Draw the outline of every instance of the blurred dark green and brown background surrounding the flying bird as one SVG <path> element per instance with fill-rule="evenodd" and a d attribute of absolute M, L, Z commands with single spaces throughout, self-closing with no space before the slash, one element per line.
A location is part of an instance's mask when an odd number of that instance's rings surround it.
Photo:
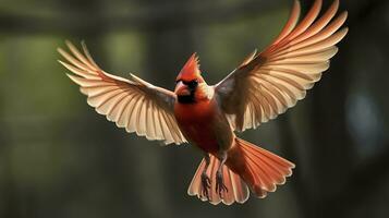
<path fill-rule="evenodd" d="M 302 0 L 303 11 L 312 0 Z M 324 1 L 325 7 L 330 1 Z M 279 33 L 292 0 L 1 0 L 0 217 L 389 216 L 389 1 L 341 0 L 347 38 L 305 100 L 241 134 L 296 164 L 265 199 L 186 195 L 202 155 L 127 134 L 88 107 L 57 47 L 173 88 L 192 52 L 217 83 Z"/>

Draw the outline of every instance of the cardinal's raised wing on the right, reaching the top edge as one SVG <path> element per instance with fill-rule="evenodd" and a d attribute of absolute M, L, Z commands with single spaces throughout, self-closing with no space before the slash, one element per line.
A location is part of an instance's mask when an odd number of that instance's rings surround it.
<path fill-rule="evenodd" d="M 332 20 L 336 0 L 316 22 L 321 0 L 316 0 L 297 24 L 300 2 L 295 1 L 289 21 L 275 41 L 259 55 L 254 52 L 219 84 L 215 92 L 222 110 L 238 131 L 257 128 L 303 99 L 306 89 L 329 68 L 348 28 L 338 31 L 347 12 Z"/>

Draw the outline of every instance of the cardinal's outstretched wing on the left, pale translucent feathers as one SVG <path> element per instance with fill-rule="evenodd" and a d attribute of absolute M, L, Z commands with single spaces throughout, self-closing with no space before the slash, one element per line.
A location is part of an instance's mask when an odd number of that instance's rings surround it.
<path fill-rule="evenodd" d="M 95 63 L 84 44 L 84 55 L 71 43 L 66 45 L 72 55 L 59 48 L 68 61 L 60 63 L 75 74 L 68 76 L 81 86 L 81 93 L 98 113 L 148 140 L 165 141 L 165 144 L 186 142 L 173 114 L 175 95 L 172 92 L 132 74 L 131 80 L 108 74 Z"/>

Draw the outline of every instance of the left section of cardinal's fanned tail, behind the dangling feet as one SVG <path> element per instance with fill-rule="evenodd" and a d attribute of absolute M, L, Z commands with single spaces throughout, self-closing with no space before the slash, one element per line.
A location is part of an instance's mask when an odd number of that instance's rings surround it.
<path fill-rule="evenodd" d="M 220 198 L 219 194 L 215 190 L 216 187 L 215 178 L 216 178 L 216 171 L 219 166 L 219 159 L 212 155 L 210 155 L 210 162 L 207 169 L 207 175 L 211 181 L 210 190 L 209 190 L 209 199 L 207 199 L 207 197 L 203 195 L 203 186 L 202 186 L 202 172 L 205 166 L 206 166 L 205 159 L 203 159 L 197 168 L 195 175 L 192 179 L 191 185 L 187 190 L 187 194 L 192 196 L 197 196 L 204 202 L 209 201 L 209 203 L 214 205 L 217 205 L 220 202 L 226 205 L 231 205 L 234 202 L 242 204 L 247 201 L 250 196 L 247 185 L 244 183 L 244 181 L 241 179 L 239 174 L 235 174 L 227 166 L 223 166 L 222 172 L 223 172 L 224 185 L 227 186 L 228 192 L 223 192 L 222 198 Z"/>

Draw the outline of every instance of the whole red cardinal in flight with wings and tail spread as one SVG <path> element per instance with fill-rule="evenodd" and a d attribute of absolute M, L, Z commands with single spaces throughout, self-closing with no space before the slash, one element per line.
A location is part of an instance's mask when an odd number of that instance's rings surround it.
<path fill-rule="evenodd" d="M 86 45 L 65 41 L 58 48 L 72 73 L 66 75 L 87 96 L 87 104 L 126 132 L 162 144 L 190 143 L 203 159 L 187 193 L 217 205 L 243 204 L 250 194 L 264 198 L 284 184 L 295 165 L 236 136 L 277 118 L 306 96 L 329 69 L 337 44 L 348 33 L 348 12 L 335 0 L 321 14 L 315 0 L 300 20 L 295 0 L 280 34 L 262 52 L 248 55 L 222 81 L 208 85 L 193 53 L 175 77 L 174 90 L 130 74 L 101 70 Z M 337 15 L 338 14 L 338 15 Z"/>

